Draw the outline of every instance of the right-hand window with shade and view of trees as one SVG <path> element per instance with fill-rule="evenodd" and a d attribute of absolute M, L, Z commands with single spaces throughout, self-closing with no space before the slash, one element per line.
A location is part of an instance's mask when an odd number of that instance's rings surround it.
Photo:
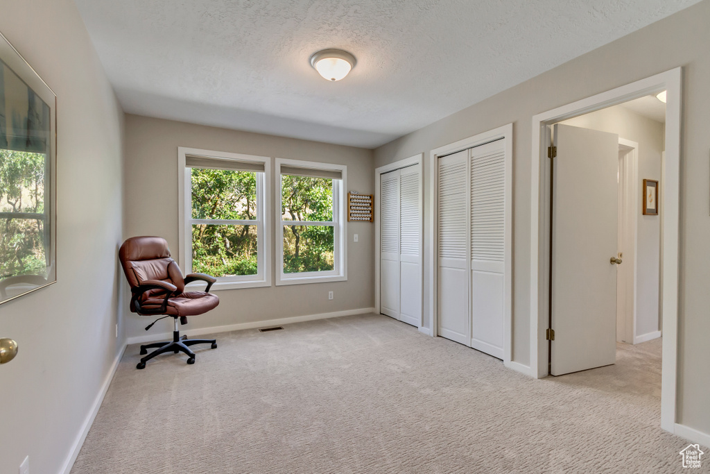
<path fill-rule="evenodd" d="M 277 159 L 276 173 L 276 284 L 346 280 L 346 167 Z"/>

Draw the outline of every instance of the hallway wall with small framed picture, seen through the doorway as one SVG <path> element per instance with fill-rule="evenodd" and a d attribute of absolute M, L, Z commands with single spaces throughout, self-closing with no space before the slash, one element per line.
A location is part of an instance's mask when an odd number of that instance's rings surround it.
<path fill-rule="evenodd" d="M 618 105 L 574 117 L 562 123 L 608 131 L 618 134 L 623 139 L 637 142 L 639 196 L 642 193 L 644 179 L 660 181 L 661 152 L 665 139 L 665 126 L 662 123 Z M 643 215 L 641 208 L 643 201 L 640 197 L 638 199 L 638 209 L 635 210 L 638 213 L 635 337 L 655 333 L 660 328 L 660 215 Z"/>

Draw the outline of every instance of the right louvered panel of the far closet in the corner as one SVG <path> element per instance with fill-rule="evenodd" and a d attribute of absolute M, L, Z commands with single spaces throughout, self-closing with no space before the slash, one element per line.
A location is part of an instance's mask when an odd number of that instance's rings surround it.
<path fill-rule="evenodd" d="M 400 169 L 400 321 L 422 321 L 421 202 L 419 166 Z"/>

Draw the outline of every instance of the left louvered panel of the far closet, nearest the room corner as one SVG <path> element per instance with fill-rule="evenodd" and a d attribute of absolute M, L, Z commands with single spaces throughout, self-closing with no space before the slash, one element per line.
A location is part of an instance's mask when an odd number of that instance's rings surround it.
<path fill-rule="evenodd" d="M 399 319 L 399 170 L 380 176 L 380 312 Z"/>

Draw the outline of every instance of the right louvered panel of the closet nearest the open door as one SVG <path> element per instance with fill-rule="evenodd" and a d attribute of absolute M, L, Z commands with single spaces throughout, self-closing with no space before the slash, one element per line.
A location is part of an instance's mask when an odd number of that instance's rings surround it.
<path fill-rule="evenodd" d="M 471 153 L 471 347 L 503 358 L 506 271 L 504 142 Z"/>

